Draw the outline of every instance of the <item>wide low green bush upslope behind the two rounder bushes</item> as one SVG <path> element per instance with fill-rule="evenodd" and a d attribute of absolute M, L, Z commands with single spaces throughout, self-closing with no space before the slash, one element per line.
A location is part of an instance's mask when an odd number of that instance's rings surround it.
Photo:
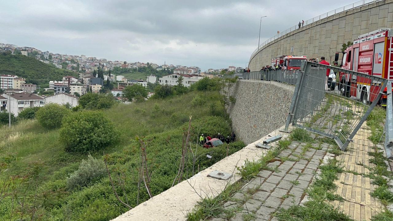
<path fill-rule="evenodd" d="M 79 105 L 86 109 L 108 109 L 114 104 L 112 94 L 93 94 L 87 93 L 79 98 Z"/>

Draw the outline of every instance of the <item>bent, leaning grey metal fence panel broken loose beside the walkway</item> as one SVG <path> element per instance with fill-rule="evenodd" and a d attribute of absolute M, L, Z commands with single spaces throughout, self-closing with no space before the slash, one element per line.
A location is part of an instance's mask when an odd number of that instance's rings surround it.
<path fill-rule="evenodd" d="M 338 91 L 327 90 L 327 69 L 342 72 L 348 83 L 338 85 Z M 352 141 L 388 82 L 380 77 L 309 61 L 302 63 L 298 74 L 286 129 L 292 123 L 333 138 L 342 150 Z"/>

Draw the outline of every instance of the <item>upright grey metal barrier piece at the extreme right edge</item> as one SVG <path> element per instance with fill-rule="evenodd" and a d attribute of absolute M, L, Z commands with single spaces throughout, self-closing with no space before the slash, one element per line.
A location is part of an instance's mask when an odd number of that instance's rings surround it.
<path fill-rule="evenodd" d="M 387 94 L 386 99 L 386 122 L 385 122 L 385 151 L 386 156 L 389 159 L 393 159 L 393 99 L 392 99 L 392 85 L 391 82 L 387 83 L 386 91 L 389 92 Z"/>

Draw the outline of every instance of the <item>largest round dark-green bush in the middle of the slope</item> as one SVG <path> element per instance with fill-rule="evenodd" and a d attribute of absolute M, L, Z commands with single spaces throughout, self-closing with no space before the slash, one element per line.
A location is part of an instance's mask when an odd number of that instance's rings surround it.
<path fill-rule="evenodd" d="M 119 135 L 101 111 L 73 112 L 65 117 L 60 137 L 68 151 L 97 151 L 116 143 Z"/>

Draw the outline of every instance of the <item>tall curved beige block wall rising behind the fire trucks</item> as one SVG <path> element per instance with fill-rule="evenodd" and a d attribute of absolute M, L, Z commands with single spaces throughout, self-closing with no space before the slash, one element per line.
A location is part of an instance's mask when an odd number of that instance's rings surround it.
<path fill-rule="evenodd" d="M 342 44 L 380 28 L 393 28 L 393 0 L 362 6 L 296 29 L 261 48 L 251 57 L 249 67 L 251 71 L 260 70 L 281 55 L 325 56 L 331 62 Z"/>

